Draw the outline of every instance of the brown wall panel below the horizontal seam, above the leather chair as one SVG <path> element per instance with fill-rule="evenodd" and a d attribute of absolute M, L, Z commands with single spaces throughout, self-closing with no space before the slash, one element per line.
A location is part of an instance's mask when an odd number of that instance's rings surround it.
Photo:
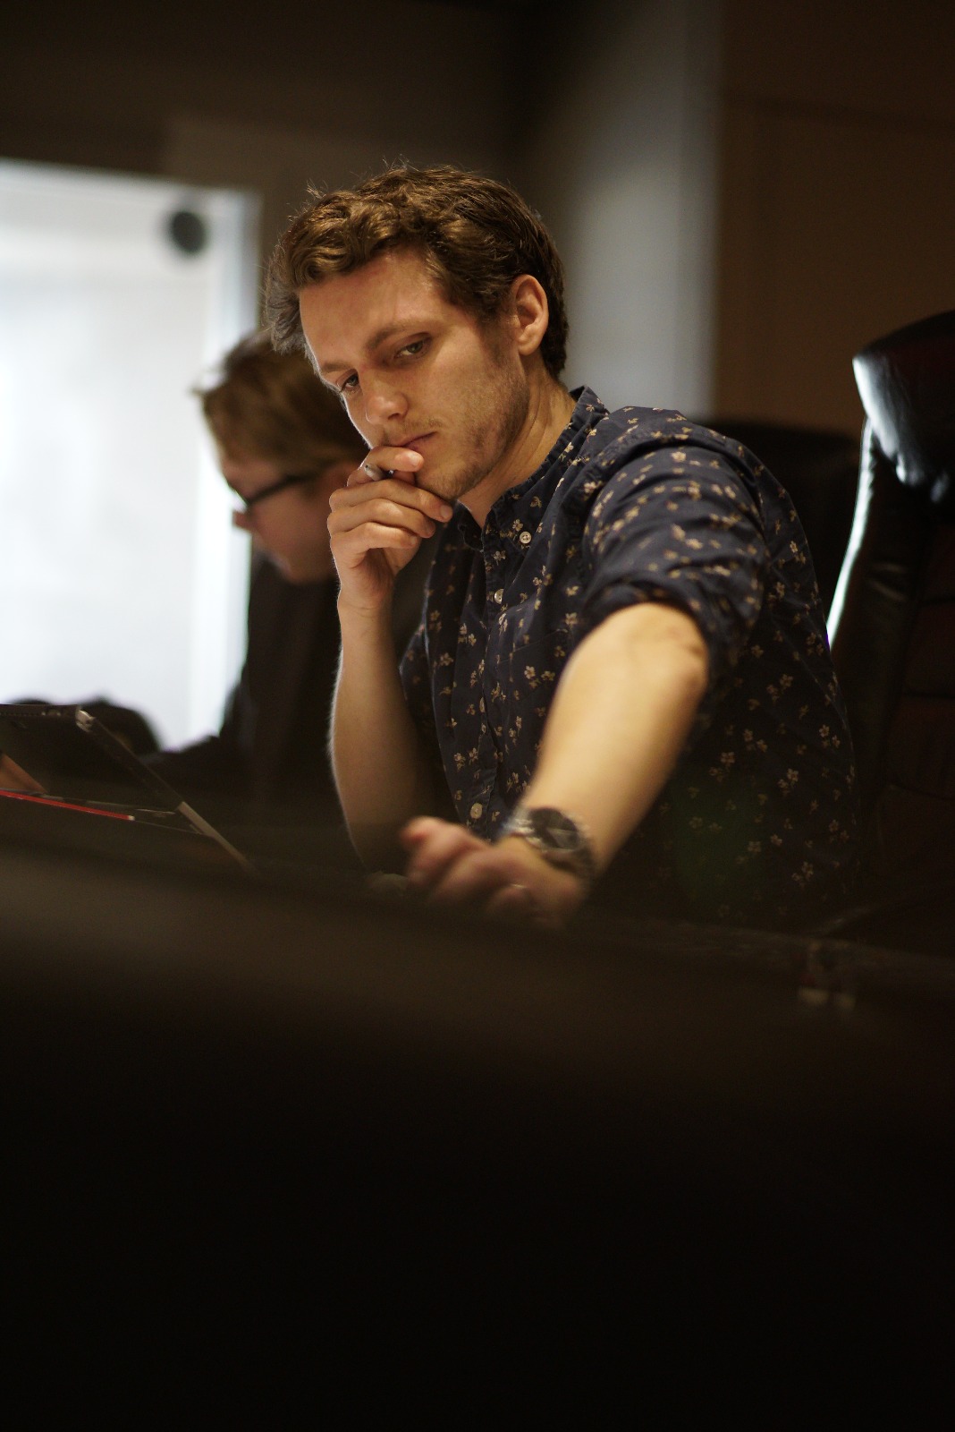
<path fill-rule="evenodd" d="M 955 132 L 733 103 L 716 404 L 858 431 L 852 355 L 955 308 Z"/>

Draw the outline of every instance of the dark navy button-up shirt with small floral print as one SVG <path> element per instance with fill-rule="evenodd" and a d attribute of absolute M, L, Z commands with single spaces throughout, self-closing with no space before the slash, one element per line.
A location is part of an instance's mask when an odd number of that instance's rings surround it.
<path fill-rule="evenodd" d="M 856 798 L 806 538 L 741 444 L 588 388 L 483 530 L 457 505 L 402 663 L 457 818 L 493 841 L 535 769 L 563 666 L 610 613 L 688 611 L 709 689 L 679 765 L 596 898 L 759 925 L 843 895 Z"/>

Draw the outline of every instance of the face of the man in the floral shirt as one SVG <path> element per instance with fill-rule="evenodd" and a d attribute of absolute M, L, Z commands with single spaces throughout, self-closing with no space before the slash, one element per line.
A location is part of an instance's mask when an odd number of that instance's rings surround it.
<path fill-rule="evenodd" d="M 528 379 L 506 315 L 450 304 L 413 251 L 389 251 L 300 294 L 319 374 L 369 447 L 406 447 L 425 487 L 450 501 L 500 470 L 528 415 Z"/>

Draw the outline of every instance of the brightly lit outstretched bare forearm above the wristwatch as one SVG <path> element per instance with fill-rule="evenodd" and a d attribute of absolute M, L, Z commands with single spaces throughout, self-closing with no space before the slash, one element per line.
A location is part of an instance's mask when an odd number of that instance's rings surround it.
<path fill-rule="evenodd" d="M 666 783 L 706 690 L 695 623 L 645 603 L 615 613 L 568 663 L 525 793 L 583 821 L 605 869 Z"/>

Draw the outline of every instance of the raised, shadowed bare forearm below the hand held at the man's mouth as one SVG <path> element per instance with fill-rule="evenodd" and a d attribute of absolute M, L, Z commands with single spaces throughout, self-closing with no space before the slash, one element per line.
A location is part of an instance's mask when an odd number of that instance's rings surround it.
<path fill-rule="evenodd" d="M 409 716 L 386 616 L 342 613 L 332 765 L 349 833 L 367 865 L 400 862 L 397 831 L 433 813 L 435 792 Z"/>

